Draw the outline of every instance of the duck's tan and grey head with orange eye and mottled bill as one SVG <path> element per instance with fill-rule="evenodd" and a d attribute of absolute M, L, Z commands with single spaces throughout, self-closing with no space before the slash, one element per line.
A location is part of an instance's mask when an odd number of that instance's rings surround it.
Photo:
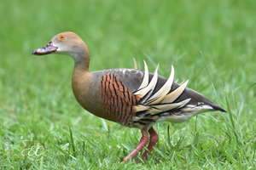
<path fill-rule="evenodd" d="M 65 54 L 73 57 L 75 60 L 81 57 L 90 58 L 89 49 L 82 38 L 71 31 L 57 34 L 44 48 L 35 49 L 32 54 Z"/>

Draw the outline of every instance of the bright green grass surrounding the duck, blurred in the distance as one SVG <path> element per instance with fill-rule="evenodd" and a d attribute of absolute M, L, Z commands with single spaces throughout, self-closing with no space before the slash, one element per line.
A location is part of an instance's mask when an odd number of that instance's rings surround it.
<path fill-rule="evenodd" d="M 0 169 L 256 168 L 255 1 L 0 4 Z M 120 164 L 140 131 L 82 109 L 71 88 L 73 59 L 31 54 L 61 31 L 87 43 L 90 71 L 132 68 L 135 58 L 149 71 L 160 63 L 168 77 L 174 65 L 180 82 L 189 79 L 229 113 L 156 124 L 160 140 L 149 160 Z M 44 143 L 45 156 L 21 155 L 33 140 Z"/>

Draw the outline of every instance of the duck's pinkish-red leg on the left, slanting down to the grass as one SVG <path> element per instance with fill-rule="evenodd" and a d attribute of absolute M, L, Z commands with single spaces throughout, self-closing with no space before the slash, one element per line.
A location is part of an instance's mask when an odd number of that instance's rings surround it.
<path fill-rule="evenodd" d="M 152 128 L 153 129 L 153 128 Z M 154 129 L 153 129 L 154 131 Z M 122 161 L 121 163 L 124 163 L 125 161 L 129 160 L 130 159 L 130 156 L 131 156 L 131 160 L 134 159 L 135 156 L 137 156 L 138 152 L 143 150 L 143 147 L 145 147 L 146 144 L 148 144 L 148 141 L 149 141 L 149 137 L 148 137 L 148 132 L 147 130 L 143 129 L 142 130 L 142 133 L 143 133 L 143 137 L 142 139 L 140 140 L 140 143 L 137 145 L 137 149 L 133 150 L 131 152 L 131 154 L 129 154 L 128 156 L 126 156 L 124 158 L 124 161 Z M 155 132 L 154 132 L 155 133 Z M 151 134 L 151 133 L 150 133 Z M 151 142 L 151 140 L 150 140 Z"/>

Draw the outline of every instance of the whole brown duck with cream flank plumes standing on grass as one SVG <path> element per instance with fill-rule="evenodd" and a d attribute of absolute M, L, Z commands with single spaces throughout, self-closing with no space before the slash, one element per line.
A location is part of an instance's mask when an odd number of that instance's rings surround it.
<path fill-rule="evenodd" d="M 144 71 L 138 70 L 137 65 L 134 69 L 89 71 L 89 48 L 81 37 L 71 31 L 57 34 L 43 48 L 33 50 L 32 54 L 72 57 L 72 88 L 79 105 L 95 116 L 141 130 L 143 136 L 139 144 L 122 163 L 133 160 L 143 148 L 141 158 L 148 160 L 159 139 L 154 131 L 155 123 L 186 122 L 207 111 L 227 112 L 211 99 L 187 88 L 189 81 L 181 84 L 174 82 L 173 66 L 168 78 L 158 75 L 159 65 L 154 73 L 149 72 L 145 61 Z"/>

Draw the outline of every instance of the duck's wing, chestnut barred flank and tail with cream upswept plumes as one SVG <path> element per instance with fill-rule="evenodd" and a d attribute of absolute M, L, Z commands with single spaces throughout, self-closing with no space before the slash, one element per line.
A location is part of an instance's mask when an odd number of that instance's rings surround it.
<path fill-rule="evenodd" d="M 115 122 L 148 128 L 155 122 L 184 122 L 201 112 L 224 111 L 212 100 L 186 88 L 188 81 L 182 85 L 173 82 L 173 66 L 167 79 L 158 76 L 158 67 L 149 73 L 144 64 L 145 71 L 114 69 L 94 73 L 101 78 L 103 105 L 108 114 L 117 116 Z"/>

